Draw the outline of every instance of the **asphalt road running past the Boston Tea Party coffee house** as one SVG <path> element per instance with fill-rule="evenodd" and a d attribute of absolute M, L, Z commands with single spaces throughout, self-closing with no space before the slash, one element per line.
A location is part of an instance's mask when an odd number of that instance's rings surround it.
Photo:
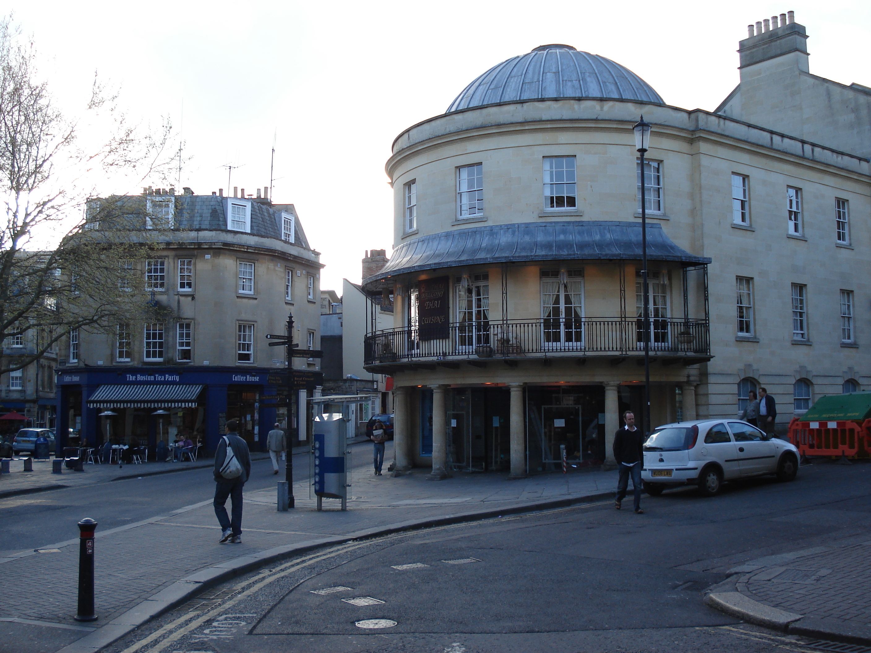
<path fill-rule="evenodd" d="M 352 445 L 352 467 L 371 465 L 372 445 Z M 392 454 L 391 454 L 392 455 Z M 135 468 L 125 465 L 125 471 Z M 147 466 L 143 466 L 147 471 Z M 284 469 L 279 472 L 283 478 Z M 272 462 L 252 461 L 246 491 L 274 488 Z M 308 478 L 308 454 L 294 455 L 294 481 Z M 107 481 L 78 488 L 0 499 L 0 555 L 37 549 L 78 537 L 76 523 L 83 517 L 97 520 L 100 530 L 140 522 L 184 508 L 214 495 L 212 468 L 194 468 L 172 474 Z M 44 499 L 44 502 L 31 502 Z M 26 564 L 26 563 L 25 563 Z"/>

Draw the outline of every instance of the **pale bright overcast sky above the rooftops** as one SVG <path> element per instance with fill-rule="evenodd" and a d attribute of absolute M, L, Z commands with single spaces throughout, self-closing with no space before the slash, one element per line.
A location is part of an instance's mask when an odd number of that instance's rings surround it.
<path fill-rule="evenodd" d="M 359 283 L 365 250 L 392 248 L 384 164 L 393 139 L 538 45 L 611 58 L 666 103 L 712 111 L 738 83 L 746 25 L 794 10 L 812 73 L 871 86 L 867 0 L 3 4 L 35 37 L 62 102 L 72 105 L 98 71 L 120 85 L 131 116 L 172 118 L 191 158 L 180 186 L 226 192 L 226 165 L 240 166 L 231 186 L 269 185 L 274 138 L 273 198 L 296 205 L 327 266 L 321 287 L 340 293 L 342 278 Z"/>

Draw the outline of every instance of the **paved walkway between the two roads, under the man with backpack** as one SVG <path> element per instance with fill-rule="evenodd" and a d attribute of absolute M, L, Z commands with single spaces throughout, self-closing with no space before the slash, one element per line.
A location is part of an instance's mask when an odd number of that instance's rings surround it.
<path fill-rule="evenodd" d="M 410 520 L 595 497 L 612 492 L 617 481 L 613 472 L 597 471 L 520 481 L 508 481 L 507 474 L 456 474 L 447 481 L 434 482 L 426 478 L 424 470 L 396 477 L 371 475 L 369 465 L 352 472 L 347 512 L 338 509 L 340 502 L 336 500 L 324 500 L 326 509 L 317 512 L 308 481 L 294 483 L 296 508 L 285 513 L 276 511 L 274 488 L 246 493 L 240 545 L 218 543 L 220 530 L 211 487 L 204 488 L 203 501 L 192 506 L 119 528 L 98 529 L 95 584 L 100 618 L 92 625 L 99 628 L 109 623 L 161 590 L 172 594 L 167 589 L 179 585 L 179 579 L 216 567 L 229 568 L 234 559 L 252 560 L 251 556 L 267 549 Z M 44 496 L 51 501 L 51 494 Z M 41 549 L 7 555 L 0 558 L 4 589 L 0 618 L 75 625 L 78 540 L 46 543 Z"/>

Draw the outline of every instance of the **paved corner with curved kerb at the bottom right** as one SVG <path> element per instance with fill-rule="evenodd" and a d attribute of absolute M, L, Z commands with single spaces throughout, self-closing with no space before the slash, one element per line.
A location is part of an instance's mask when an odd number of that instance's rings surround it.
<path fill-rule="evenodd" d="M 871 644 L 868 534 L 768 555 L 728 573 L 706 597 L 714 607 L 795 635 Z"/>

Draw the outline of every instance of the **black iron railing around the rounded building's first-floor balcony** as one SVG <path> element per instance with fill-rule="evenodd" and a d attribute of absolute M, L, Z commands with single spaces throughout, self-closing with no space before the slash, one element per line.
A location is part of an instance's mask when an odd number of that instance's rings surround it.
<path fill-rule="evenodd" d="M 659 356 L 709 356 L 706 320 L 651 320 L 650 351 Z M 388 329 L 366 336 L 367 365 L 422 359 L 517 358 L 530 354 L 640 355 L 645 348 L 643 320 L 621 318 L 546 318 L 459 322 L 438 327 Z"/>

